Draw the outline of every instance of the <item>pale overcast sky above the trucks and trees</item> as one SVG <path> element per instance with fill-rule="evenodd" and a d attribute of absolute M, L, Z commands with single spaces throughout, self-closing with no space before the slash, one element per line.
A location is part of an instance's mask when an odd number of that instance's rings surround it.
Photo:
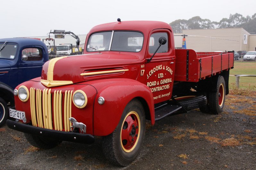
<path fill-rule="evenodd" d="M 254 0 L 4 0 L 0 3 L 0 38 L 46 36 L 50 30 L 87 34 L 91 27 L 107 22 L 176 19 L 220 21 L 230 14 L 250 17 Z"/>

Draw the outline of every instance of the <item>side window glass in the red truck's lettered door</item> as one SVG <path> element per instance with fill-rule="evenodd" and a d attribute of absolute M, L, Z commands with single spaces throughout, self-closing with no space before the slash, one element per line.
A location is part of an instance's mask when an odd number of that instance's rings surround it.
<path fill-rule="evenodd" d="M 164 45 L 161 45 L 161 47 L 158 49 L 157 53 L 164 53 L 164 52 L 168 52 L 168 47 L 169 47 L 169 43 L 168 43 L 168 34 L 167 33 L 154 33 L 150 36 L 149 39 L 149 53 L 154 53 L 158 46 L 159 46 L 159 38 L 160 37 L 165 37 L 167 42 Z"/>

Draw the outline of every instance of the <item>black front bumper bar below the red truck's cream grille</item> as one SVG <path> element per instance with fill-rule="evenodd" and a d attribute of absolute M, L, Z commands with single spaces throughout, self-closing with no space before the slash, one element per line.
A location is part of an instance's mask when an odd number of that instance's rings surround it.
<path fill-rule="evenodd" d="M 45 138 L 88 144 L 93 143 L 95 141 L 94 136 L 90 134 L 63 132 L 45 128 L 38 128 L 31 125 L 15 122 L 12 120 L 7 120 L 6 124 L 11 129 Z"/>

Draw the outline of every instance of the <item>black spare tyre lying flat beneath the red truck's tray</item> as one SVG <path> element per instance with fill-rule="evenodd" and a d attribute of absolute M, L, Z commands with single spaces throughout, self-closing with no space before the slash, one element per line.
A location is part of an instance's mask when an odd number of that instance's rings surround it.
<path fill-rule="evenodd" d="M 188 97 L 186 99 L 177 100 L 177 101 L 187 111 L 199 108 L 200 106 L 207 104 L 207 99 L 206 99 L 206 96 L 204 95 L 200 95 L 196 97 Z"/>

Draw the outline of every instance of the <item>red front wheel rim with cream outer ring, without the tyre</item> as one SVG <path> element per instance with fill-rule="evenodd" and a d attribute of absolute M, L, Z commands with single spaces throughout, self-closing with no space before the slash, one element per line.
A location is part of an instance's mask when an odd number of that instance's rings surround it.
<path fill-rule="evenodd" d="M 121 145 L 125 152 L 136 147 L 141 132 L 141 122 L 137 112 L 129 112 L 124 118 L 121 129 Z"/>

